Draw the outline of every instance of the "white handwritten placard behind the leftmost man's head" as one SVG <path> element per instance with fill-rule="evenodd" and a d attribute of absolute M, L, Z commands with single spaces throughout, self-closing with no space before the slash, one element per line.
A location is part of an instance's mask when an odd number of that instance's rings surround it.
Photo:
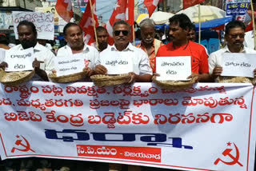
<path fill-rule="evenodd" d="M 38 32 L 38 39 L 54 40 L 54 14 L 24 11 L 13 11 L 12 14 L 16 39 L 18 39 L 18 23 L 26 20 L 34 23 Z"/>

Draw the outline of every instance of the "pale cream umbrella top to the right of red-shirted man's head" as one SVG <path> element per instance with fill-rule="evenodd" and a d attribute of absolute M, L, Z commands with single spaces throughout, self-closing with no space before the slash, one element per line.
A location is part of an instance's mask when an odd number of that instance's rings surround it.
<path fill-rule="evenodd" d="M 206 22 L 218 18 L 224 18 L 225 17 L 225 11 L 221 10 L 215 6 L 200 6 L 201 10 L 201 22 Z M 186 14 L 191 22 L 199 22 L 198 19 L 198 5 L 197 6 L 191 6 L 190 8 L 187 8 L 185 10 L 179 11 L 177 14 Z"/>

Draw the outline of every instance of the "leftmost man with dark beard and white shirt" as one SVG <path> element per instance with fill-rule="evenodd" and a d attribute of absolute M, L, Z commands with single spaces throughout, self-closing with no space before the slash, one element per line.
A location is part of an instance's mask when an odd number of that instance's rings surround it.
<path fill-rule="evenodd" d="M 18 40 L 21 43 L 18 46 L 10 48 L 10 50 L 26 50 L 30 47 L 34 48 L 34 62 L 32 66 L 35 70 L 34 81 L 48 81 L 47 74 L 53 70 L 54 54 L 45 46 L 42 46 L 37 41 L 37 30 L 33 22 L 22 21 L 17 26 Z M 2 62 L 0 67 L 5 68 L 8 64 Z"/>

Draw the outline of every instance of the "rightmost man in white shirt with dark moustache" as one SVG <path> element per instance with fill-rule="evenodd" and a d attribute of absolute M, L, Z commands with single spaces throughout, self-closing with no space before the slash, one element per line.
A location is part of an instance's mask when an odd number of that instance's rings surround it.
<path fill-rule="evenodd" d="M 218 78 L 222 74 L 222 54 L 224 53 L 244 53 L 244 54 L 256 54 L 255 50 L 244 47 L 246 26 L 243 22 L 233 21 L 226 25 L 225 40 L 226 46 L 212 54 L 209 58 L 209 73 L 210 79 L 214 82 L 215 78 Z M 255 71 L 254 71 L 255 73 Z"/>

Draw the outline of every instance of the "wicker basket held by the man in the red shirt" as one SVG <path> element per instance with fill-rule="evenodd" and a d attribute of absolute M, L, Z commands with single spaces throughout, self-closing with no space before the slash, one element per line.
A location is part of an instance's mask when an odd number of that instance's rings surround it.
<path fill-rule="evenodd" d="M 161 87 L 162 89 L 172 89 L 172 90 L 180 90 L 180 89 L 189 89 L 195 83 L 196 78 L 192 78 L 190 81 L 158 81 L 155 76 L 152 78 L 153 82 Z"/>

